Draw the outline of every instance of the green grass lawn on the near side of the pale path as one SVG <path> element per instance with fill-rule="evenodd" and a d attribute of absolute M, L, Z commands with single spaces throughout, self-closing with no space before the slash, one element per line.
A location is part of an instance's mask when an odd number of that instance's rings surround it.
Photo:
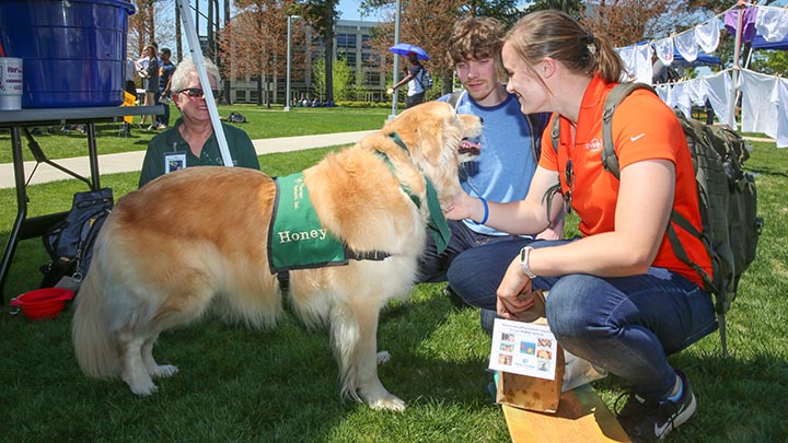
<path fill-rule="evenodd" d="M 722 359 L 717 334 L 671 357 L 691 376 L 698 398 L 697 412 L 670 434 L 671 441 L 788 441 L 788 150 L 754 144 L 746 167 L 757 175 L 766 225 L 728 317 L 731 357 Z M 260 164 L 281 175 L 325 152 L 264 155 Z M 134 189 L 137 178 L 128 173 L 102 180 L 117 198 Z M 71 195 L 83 188 L 76 180 L 32 186 L 32 211 L 66 210 Z M 13 189 L 1 189 L 0 242 L 14 215 Z M 206 319 L 166 331 L 157 357 L 181 372 L 160 381 L 155 395 L 140 398 L 118 380 L 81 374 L 70 343 L 70 306 L 54 320 L 10 315 L 9 299 L 37 285 L 46 260 L 40 240 L 22 242 L 4 288 L 0 410 L 7 423 L 0 440 L 510 441 L 500 407 L 485 392 L 491 380 L 485 371 L 490 340 L 478 326 L 477 311 L 455 308 L 441 295 L 442 284 L 417 287 L 381 316 L 379 347 L 392 360 L 380 376 L 407 401 L 402 413 L 340 400 L 327 331 L 306 330 L 290 314 L 271 330 Z M 622 392 L 614 376 L 593 386 L 609 405 Z"/>

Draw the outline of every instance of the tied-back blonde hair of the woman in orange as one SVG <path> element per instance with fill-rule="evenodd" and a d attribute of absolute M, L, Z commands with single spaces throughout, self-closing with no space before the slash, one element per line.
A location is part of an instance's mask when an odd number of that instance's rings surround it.
<path fill-rule="evenodd" d="M 618 82 L 624 72 L 624 62 L 607 38 L 594 36 L 561 11 L 546 10 L 523 16 L 506 34 L 503 43 L 534 73 L 534 67 L 545 57 L 560 61 L 575 73 L 599 72 L 607 83 Z"/>

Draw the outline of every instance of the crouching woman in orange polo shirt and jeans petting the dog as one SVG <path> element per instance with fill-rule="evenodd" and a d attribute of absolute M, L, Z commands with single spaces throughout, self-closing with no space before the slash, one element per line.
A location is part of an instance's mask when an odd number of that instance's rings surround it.
<path fill-rule="evenodd" d="M 686 421 L 695 396 L 667 357 L 716 328 L 711 296 L 665 236 L 671 211 L 700 230 L 695 174 L 681 124 L 659 97 L 638 90 L 613 117 L 621 180 L 602 165 L 602 109 L 624 66 L 605 38 L 559 11 L 525 15 L 503 38 L 507 89 L 525 114 L 559 118 L 557 152 L 549 127 L 524 200 L 487 202 L 463 195 L 447 213 L 512 234 L 543 231 L 560 201 L 580 218 L 581 238 L 537 242 L 515 257 L 495 245 L 463 257 L 468 272 L 497 281 L 498 315 L 518 319 L 548 290 L 546 316 L 569 352 L 621 376 L 633 393 L 618 411 L 636 441 L 652 441 Z M 711 272 L 703 244 L 676 229 L 691 259 Z M 513 259 L 512 259 L 513 258 Z M 457 269 L 455 269 L 457 270 Z M 453 288 L 462 295 L 462 288 Z"/>

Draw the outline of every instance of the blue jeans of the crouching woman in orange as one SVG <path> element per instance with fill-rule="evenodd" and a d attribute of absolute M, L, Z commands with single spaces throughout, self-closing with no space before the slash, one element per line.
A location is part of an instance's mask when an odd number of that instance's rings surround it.
<path fill-rule="evenodd" d="M 518 253 L 513 245 L 501 243 L 459 256 L 449 279 L 455 273 L 466 277 L 452 281 L 453 290 L 471 304 L 495 306 L 498 283 Z M 664 398 L 673 388 L 675 372 L 668 355 L 717 328 L 711 296 L 663 268 L 622 278 L 538 277 L 533 285 L 549 290 L 547 322 L 564 349 L 621 376 L 647 398 Z"/>

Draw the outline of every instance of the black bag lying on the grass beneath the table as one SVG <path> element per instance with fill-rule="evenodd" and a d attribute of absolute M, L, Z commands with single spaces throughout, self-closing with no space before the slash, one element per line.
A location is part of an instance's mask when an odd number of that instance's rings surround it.
<path fill-rule="evenodd" d="M 66 219 L 49 228 L 44 236 L 44 248 L 50 261 L 42 267 L 42 288 L 51 288 L 63 277 L 71 277 L 69 287 L 77 289 L 88 272 L 93 258 L 93 244 L 114 205 L 113 191 L 77 193 Z"/>

